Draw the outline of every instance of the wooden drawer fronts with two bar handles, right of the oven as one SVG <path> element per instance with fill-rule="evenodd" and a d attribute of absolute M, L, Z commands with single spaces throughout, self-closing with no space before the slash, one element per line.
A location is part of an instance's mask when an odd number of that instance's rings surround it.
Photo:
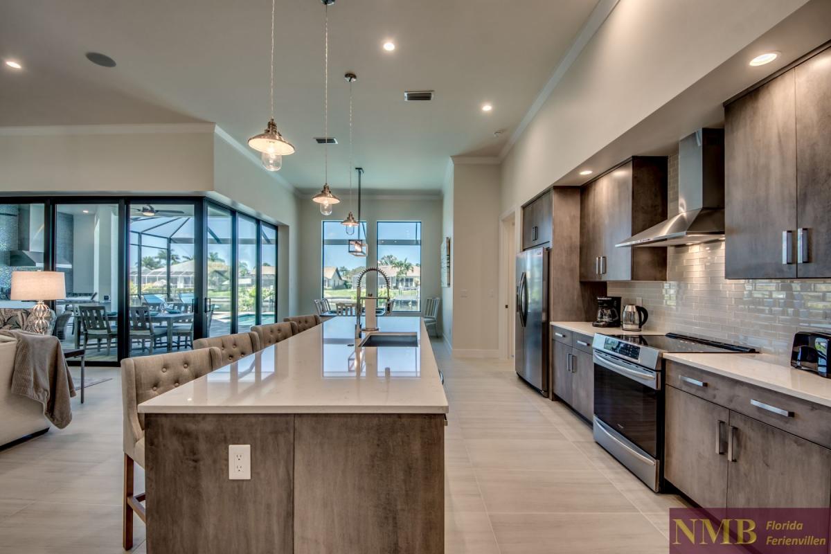
<path fill-rule="evenodd" d="M 666 384 L 831 448 L 831 408 L 666 360 Z"/>

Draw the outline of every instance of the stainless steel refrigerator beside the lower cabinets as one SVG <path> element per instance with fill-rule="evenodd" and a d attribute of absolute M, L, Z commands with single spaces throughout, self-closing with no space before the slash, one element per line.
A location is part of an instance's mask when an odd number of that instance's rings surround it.
<path fill-rule="evenodd" d="M 548 395 L 548 248 L 517 254 L 514 369 Z"/>

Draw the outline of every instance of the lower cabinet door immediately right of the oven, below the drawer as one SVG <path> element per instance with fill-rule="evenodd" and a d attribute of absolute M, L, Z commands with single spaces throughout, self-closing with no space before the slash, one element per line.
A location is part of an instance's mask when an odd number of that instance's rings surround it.
<path fill-rule="evenodd" d="M 666 387 L 664 477 L 700 506 L 725 507 L 730 410 Z"/>

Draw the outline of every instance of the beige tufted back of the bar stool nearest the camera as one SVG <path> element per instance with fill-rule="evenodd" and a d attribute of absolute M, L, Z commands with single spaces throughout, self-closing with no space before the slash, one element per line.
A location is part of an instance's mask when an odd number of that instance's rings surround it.
<path fill-rule="evenodd" d="M 218 348 L 121 360 L 124 453 L 145 467 L 145 418 L 139 404 L 223 365 Z"/>

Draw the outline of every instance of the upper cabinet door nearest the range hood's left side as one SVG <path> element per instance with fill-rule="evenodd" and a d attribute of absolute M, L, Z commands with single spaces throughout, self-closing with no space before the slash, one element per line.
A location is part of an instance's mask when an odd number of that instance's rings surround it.
<path fill-rule="evenodd" d="M 603 281 L 632 279 L 632 248 L 615 244 L 632 236 L 632 162 L 612 170 L 602 181 Z"/>

